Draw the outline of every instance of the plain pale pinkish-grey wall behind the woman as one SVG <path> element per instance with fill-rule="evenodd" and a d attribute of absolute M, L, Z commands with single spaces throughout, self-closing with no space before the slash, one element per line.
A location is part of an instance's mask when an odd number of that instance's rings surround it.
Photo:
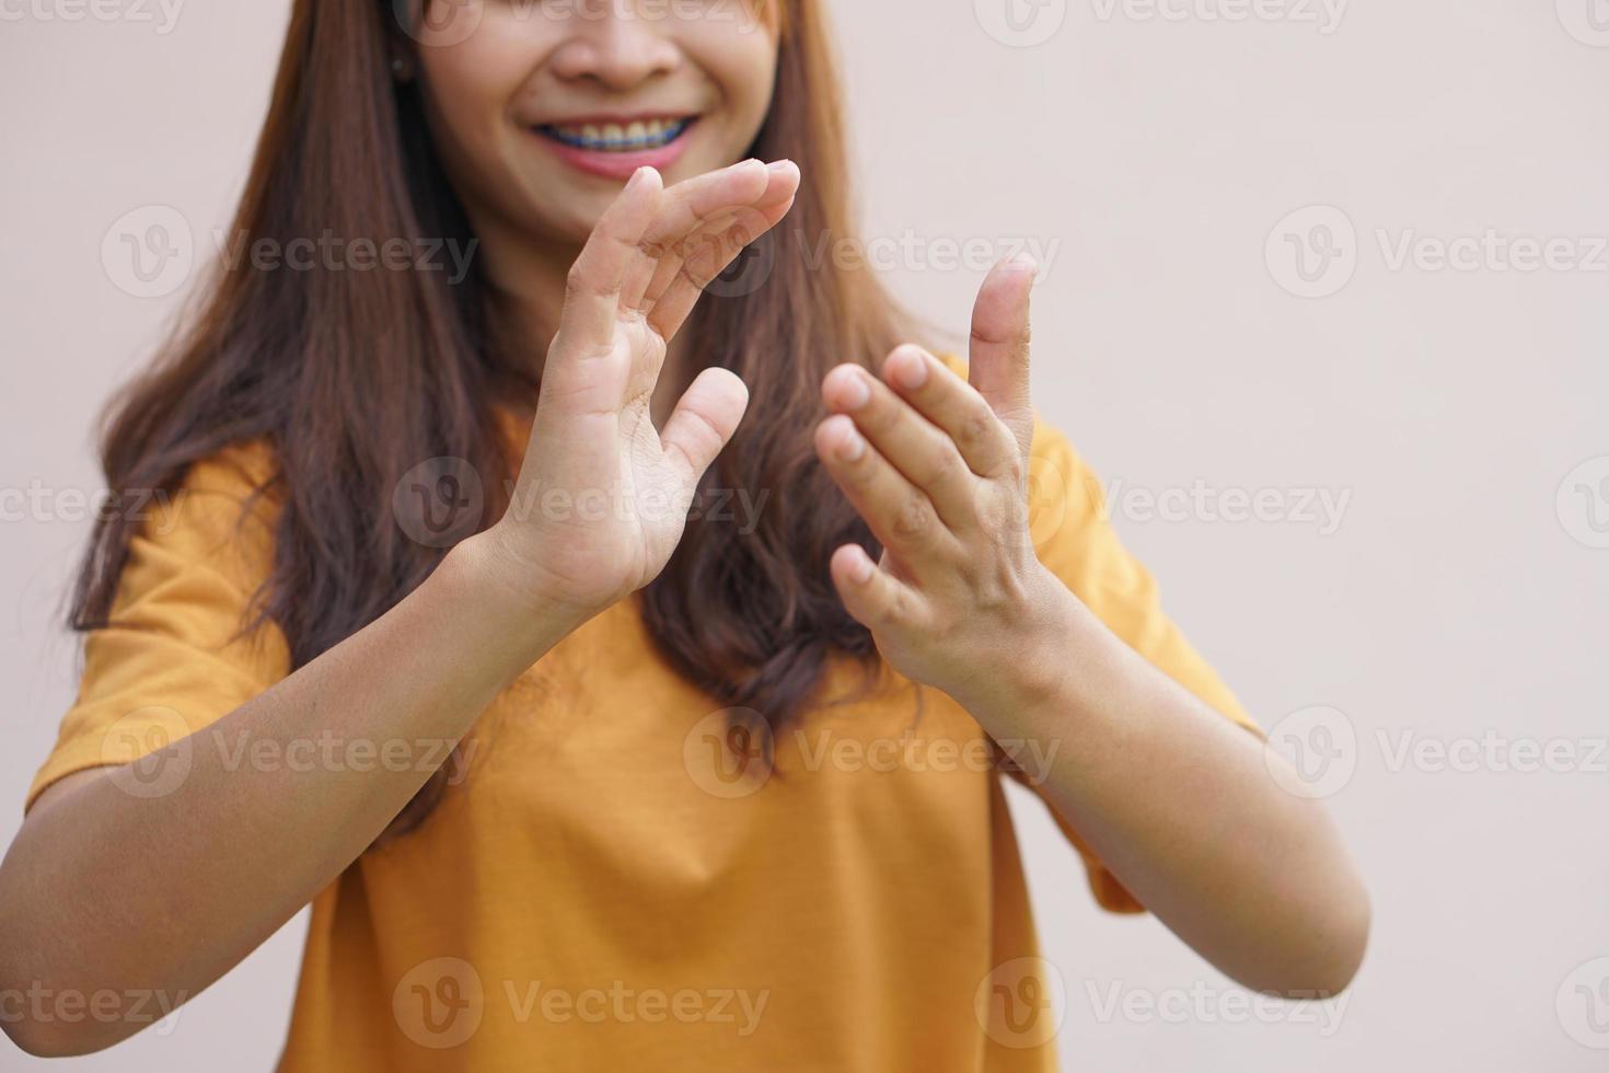
<path fill-rule="evenodd" d="M 1281 748 L 1327 748 L 1376 906 L 1342 1002 L 1249 1012 L 1018 800 L 1067 1068 L 1603 1068 L 1609 5 L 1009 2 L 832 5 L 869 253 L 964 331 L 970 262 L 1033 243 L 1041 410 Z M 103 240 L 227 222 L 286 11 L 0 0 L 0 838 L 74 690 L 90 418 L 183 294 Z M 270 1068 L 302 927 L 58 1068 Z"/>

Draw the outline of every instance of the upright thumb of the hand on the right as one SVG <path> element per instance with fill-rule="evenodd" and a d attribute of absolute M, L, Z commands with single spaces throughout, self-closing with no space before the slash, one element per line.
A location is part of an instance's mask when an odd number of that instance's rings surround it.
<path fill-rule="evenodd" d="M 1017 438 L 1022 457 L 1033 446 L 1028 389 L 1028 293 L 1038 265 L 1017 254 L 994 265 L 972 307 L 969 378 Z"/>

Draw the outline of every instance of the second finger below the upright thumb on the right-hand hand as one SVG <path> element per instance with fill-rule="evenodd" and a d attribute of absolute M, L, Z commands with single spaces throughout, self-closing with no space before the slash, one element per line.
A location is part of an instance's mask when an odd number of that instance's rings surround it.
<path fill-rule="evenodd" d="M 977 476 L 941 428 L 859 365 L 833 368 L 821 393 L 829 410 L 848 413 L 877 452 L 927 492 L 946 526 L 959 532 L 975 521 Z"/>

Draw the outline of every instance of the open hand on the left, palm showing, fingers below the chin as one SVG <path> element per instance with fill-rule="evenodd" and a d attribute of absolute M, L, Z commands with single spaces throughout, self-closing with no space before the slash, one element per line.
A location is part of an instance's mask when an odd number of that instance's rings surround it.
<path fill-rule="evenodd" d="M 489 531 L 544 608 L 587 618 L 669 561 L 748 389 L 706 368 L 656 430 L 648 404 L 666 344 L 798 183 L 792 161 L 743 161 L 668 190 L 640 169 L 599 219 L 570 270 L 512 505 Z"/>

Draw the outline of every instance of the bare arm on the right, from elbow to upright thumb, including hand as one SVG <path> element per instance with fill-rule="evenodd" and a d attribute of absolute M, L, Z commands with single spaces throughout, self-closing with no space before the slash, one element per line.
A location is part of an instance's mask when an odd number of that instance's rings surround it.
<path fill-rule="evenodd" d="M 917 347 L 882 380 L 829 375 L 817 452 L 885 547 L 879 563 L 838 549 L 833 582 L 895 668 L 1054 758 L 1044 796 L 1195 951 L 1260 991 L 1334 994 L 1363 959 L 1369 901 L 1319 803 L 1286 793 L 1255 735 L 1036 558 L 1030 267 L 985 282 L 970 383 Z"/>

